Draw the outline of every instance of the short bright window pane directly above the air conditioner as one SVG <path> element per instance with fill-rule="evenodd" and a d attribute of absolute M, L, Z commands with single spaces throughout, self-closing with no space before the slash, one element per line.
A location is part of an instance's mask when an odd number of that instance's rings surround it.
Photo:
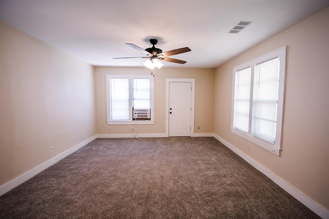
<path fill-rule="evenodd" d="M 133 106 L 134 108 L 151 108 L 150 79 L 133 79 Z"/>

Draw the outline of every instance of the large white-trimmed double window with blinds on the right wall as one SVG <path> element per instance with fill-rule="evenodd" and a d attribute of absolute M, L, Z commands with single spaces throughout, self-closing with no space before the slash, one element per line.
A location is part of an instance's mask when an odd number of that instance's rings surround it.
<path fill-rule="evenodd" d="M 232 133 L 280 156 L 286 47 L 233 68 Z"/>

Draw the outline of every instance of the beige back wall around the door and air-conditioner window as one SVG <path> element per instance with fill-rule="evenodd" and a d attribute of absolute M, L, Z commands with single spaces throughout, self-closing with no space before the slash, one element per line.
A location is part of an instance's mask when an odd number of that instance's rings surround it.
<path fill-rule="evenodd" d="M 166 65 L 166 63 L 165 63 Z M 147 68 L 95 67 L 98 134 L 130 134 L 132 125 L 106 124 L 106 74 L 151 74 Z M 213 133 L 214 69 L 166 68 L 153 70 L 155 96 L 154 124 L 138 125 L 138 133 L 165 133 L 166 78 L 195 78 L 195 133 Z M 104 127 L 102 127 L 104 124 Z M 196 127 L 200 126 L 197 130 Z"/>

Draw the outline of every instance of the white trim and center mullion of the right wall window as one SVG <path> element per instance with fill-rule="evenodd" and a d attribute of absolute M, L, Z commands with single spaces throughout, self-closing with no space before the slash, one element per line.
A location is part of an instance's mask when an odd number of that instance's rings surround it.
<path fill-rule="evenodd" d="M 253 90 L 253 75 L 255 65 L 280 57 L 280 68 L 279 68 L 279 93 L 278 93 L 278 108 L 277 108 L 277 127 L 276 127 L 276 141 L 272 145 L 266 141 L 255 138 L 251 135 L 251 119 L 252 119 L 252 90 Z M 249 131 L 245 133 L 241 130 L 234 129 L 233 127 L 233 116 L 234 116 L 234 88 L 235 88 L 235 72 L 247 67 L 251 67 L 251 88 L 250 88 L 250 112 L 249 112 Z M 233 85 L 232 85 L 232 116 L 231 116 L 231 132 L 235 135 L 238 135 L 254 144 L 259 145 L 260 147 L 266 149 L 267 151 L 272 152 L 278 156 L 281 155 L 281 141 L 282 141 L 282 126 L 283 126 L 283 106 L 284 106 L 284 87 L 285 87 L 285 71 L 286 71 L 286 46 L 281 47 L 277 50 L 269 52 L 261 57 L 243 63 L 241 65 L 233 67 Z"/>

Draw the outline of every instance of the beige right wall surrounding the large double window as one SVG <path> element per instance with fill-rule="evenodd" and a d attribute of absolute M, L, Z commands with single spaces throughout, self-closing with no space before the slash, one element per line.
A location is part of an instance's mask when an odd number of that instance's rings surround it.
<path fill-rule="evenodd" d="M 218 67 L 214 133 L 329 210 L 328 21 L 326 8 Z M 232 68 L 284 45 L 283 151 L 278 157 L 231 133 Z"/>

